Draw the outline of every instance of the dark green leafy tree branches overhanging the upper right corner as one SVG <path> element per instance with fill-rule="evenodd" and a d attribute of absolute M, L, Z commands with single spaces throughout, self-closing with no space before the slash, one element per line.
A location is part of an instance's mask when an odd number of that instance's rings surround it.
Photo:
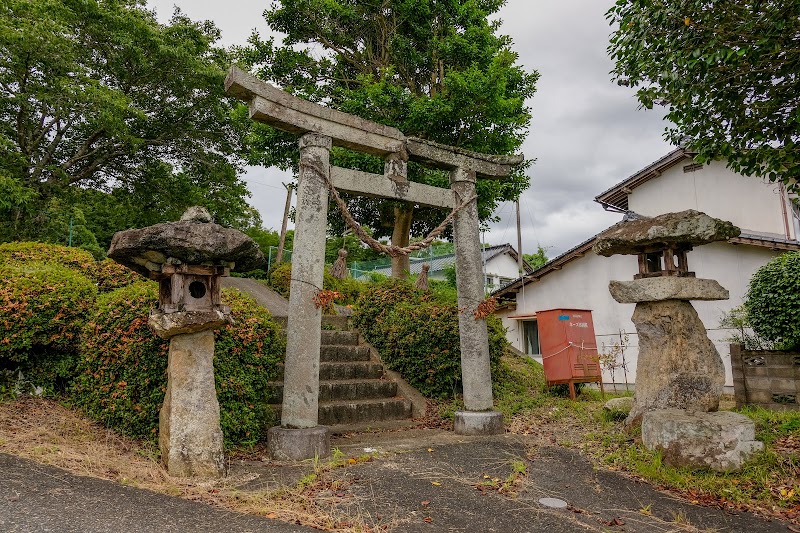
<path fill-rule="evenodd" d="M 800 2 L 618 0 L 607 17 L 612 76 L 667 106 L 668 140 L 800 190 Z"/>

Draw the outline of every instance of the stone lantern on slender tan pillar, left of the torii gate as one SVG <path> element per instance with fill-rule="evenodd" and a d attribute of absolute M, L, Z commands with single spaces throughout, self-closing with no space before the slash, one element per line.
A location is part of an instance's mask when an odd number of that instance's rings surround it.
<path fill-rule="evenodd" d="M 220 300 L 220 278 L 260 266 L 263 254 L 244 233 L 192 207 L 178 222 L 116 233 L 108 256 L 159 283 L 148 325 L 170 341 L 159 417 L 162 460 L 174 476 L 224 475 L 213 330 L 232 320 Z"/>

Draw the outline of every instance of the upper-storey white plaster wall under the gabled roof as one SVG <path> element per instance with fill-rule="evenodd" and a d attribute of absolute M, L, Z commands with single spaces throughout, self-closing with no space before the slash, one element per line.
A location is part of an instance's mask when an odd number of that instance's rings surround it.
<path fill-rule="evenodd" d="M 642 215 L 655 216 L 672 211 L 696 209 L 742 228 L 796 239 L 789 218 L 789 235 L 782 203 L 787 202 L 781 188 L 762 178 L 742 176 L 715 161 L 694 172 L 684 172 L 689 159 L 666 170 L 658 178 L 633 189 L 628 207 Z M 787 212 L 791 217 L 791 213 Z"/>

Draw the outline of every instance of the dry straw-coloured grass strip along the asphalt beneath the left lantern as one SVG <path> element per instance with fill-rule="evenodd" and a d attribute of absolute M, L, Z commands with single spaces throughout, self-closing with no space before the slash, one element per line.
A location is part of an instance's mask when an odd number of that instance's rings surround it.
<path fill-rule="evenodd" d="M 248 489 L 258 477 L 247 473 L 220 480 L 171 477 L 158 462 L 150 442 L 120 436 L 80 412 L 48 399 L 24 398 L 0 402 L 0 446 L 4 453 L 64 468 L 79 475 L 116 481 L 200 501 L 231 511 L 278 519 L 321 530 L 345 533 L 373 531 L 374 520 L 339 505 L 347 491 L 340 468 L 373 459 L 336 452 L 329 460 L 307 465 L 294 483 L 278 488 Z M 344 478 L 344 479 L 342 479 Z M 346 499 L 345 494 L 344 498 Z"/>

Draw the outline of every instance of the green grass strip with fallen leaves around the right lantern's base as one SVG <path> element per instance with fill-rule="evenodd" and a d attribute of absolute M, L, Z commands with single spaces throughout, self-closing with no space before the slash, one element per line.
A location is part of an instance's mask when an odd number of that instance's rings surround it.
<path fill-rule="evenodd" d="M 606 399 L 610 396 L 606 395 Z M 506 398 L 507 399 L 507 398 Z M 800 523 L 800 412 L 748 407 L 738 412 L 756 424 L 765 450 L 742 471 L 718 473 L 675 468 L 641 444 L 641 430 L 627 430 L 623 417 L 609 416 L 599 392 L 585 390 L 576 401 L 542 394 L 507 419 L 513 433 L 538 437 L 531 446 L 580 449 L 596 464 L 628 472 L 671 490 L 692 503 L 732 511 L 748 509 Z"/>

